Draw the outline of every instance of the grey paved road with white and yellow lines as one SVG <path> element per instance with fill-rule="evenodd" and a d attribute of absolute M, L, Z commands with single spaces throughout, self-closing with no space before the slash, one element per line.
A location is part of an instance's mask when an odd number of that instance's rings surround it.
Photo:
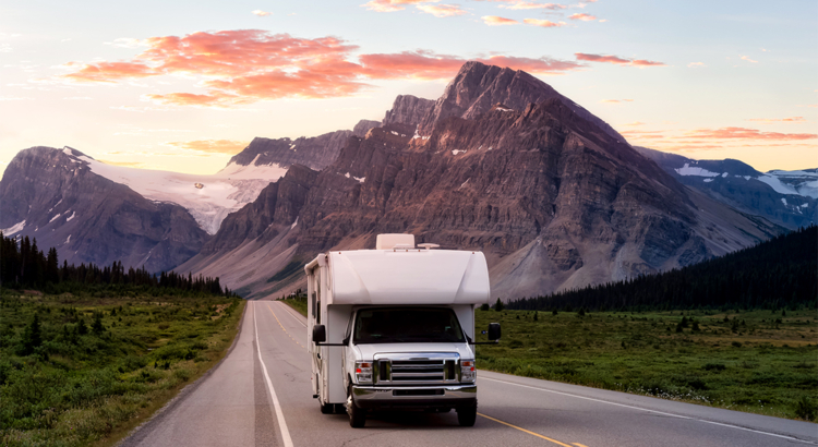
<path fill-rule="evenodd" d="M 799 446 L 818 425 L 481 371 L 477 424 L 455 412 L 321 414 L 310 389 L 304 318 L 248 303 L 225 361 L 124 446 Z"/>

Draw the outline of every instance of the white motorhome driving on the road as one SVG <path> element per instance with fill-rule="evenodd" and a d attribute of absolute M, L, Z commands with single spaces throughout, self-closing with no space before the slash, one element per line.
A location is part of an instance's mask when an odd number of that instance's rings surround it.
<path fill-rule="evenodd" d="M 481 252 L 414 246 L 380 234 L 375 250 L 322 253 L 304 266 L 313 397 L 362 427 L 377 409 L 477 416 L 474 307 L 489 302 Z M 489 342 L 500 325 L 489 326 Z"/>

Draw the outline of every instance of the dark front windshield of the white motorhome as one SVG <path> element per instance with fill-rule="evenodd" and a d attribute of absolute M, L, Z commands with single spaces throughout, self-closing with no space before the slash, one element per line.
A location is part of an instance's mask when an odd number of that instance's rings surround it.
<path fill-rule="evenodd" d="M 383 307 L 358 311 L 352 342 L 462 342 L 457 315 L 445 307 Z"/>

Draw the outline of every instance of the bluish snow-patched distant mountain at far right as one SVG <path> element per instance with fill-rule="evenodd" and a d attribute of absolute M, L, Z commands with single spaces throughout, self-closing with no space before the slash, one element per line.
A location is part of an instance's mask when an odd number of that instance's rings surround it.
<path fill-rule="evenodd" d="M 818 222 L 818 170 L 759 172 L 738 160 L 694 160 L 635 147 L 681 183 L 790 229 Z"/>

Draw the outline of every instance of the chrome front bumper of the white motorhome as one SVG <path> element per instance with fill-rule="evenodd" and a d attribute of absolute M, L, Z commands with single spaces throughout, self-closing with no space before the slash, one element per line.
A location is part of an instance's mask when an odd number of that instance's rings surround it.
<path fill-rule="evenodd" d="M 352 386 L 354 403 L 363 409 L 457 408 L 477 404 L 477 385 L 426 387 Z"/>

